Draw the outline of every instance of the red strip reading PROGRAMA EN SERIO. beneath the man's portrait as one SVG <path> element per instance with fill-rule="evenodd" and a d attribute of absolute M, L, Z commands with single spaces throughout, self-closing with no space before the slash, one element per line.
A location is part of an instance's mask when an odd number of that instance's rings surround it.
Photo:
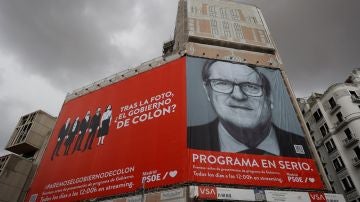
<path fill-rule="evenodd" d="M 312 159 L 190 150 L 195 182 L 321 189 Z"/>

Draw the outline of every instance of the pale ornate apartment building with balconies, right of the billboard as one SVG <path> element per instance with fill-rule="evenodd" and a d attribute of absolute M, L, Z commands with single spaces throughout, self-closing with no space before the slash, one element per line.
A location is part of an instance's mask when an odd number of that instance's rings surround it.
<path fill-rule="evenodd" d="M 359 202 L 360 69 L 298 102 L 333 191 Z"/>

